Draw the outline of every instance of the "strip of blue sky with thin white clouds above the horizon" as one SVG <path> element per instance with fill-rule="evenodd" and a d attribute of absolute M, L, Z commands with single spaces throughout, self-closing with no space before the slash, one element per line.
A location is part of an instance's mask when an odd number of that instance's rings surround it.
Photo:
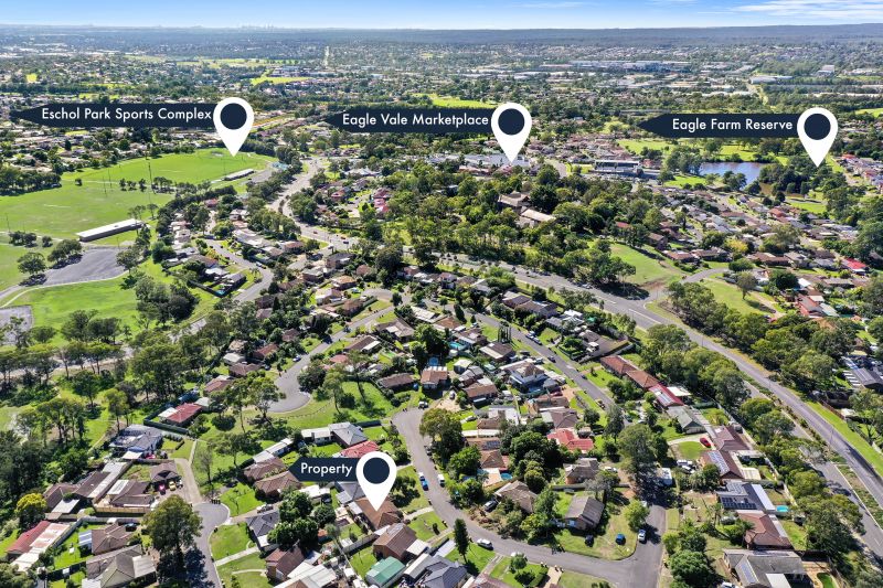
<path fill-rule="evenodd" d="M 14 24 L 631 29 L 883 22 L 883 0 L 0 0 Z"/>

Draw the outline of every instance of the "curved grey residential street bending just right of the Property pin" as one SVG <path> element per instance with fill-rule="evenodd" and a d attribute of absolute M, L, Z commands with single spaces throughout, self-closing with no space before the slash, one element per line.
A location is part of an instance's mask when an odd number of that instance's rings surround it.
<path fill-rule="evenodd" d="M 462 518 L 466 521 L 466 527 L 472 541 L 479 538 L 488 539 L 493 543 L 493 550 L 499 554 L 521 552 L 531 562 L 543 563 L 550 567 L 558 566 L 562 569 L 579 574 L 589 574 L 624 588 L 629 586 L 647 587 L 657 585 L 659 568 L 662 562 L 662 542 L 660 537 L 664 532 L 666 524 L 666 511 L 662 506 L 658 504 L 651 506 L 650 517 L 647 522 L 648 525 L 656 528 L 656 532 L 651 534 L 648 542 L 646 544 L 638 544 L 635 554 L 626 559 L 617 562 L 564 552 L 552 553 L 549 547 L 529 545 L 511 538 L 504 539 L 497 533 L 480 526 L 469 518 L 468 513 L 460 511 L 451 504 L 448 500 L 447 491 L 435 482 L 435 480 L 437 480 L 438 470 L 436 470 L 435 463 L 426 453 L 425 443 L 428 439 L 425 439 L 419 434 L 423 410 L 408 408 L 395 415 L 393 417 L 393 423 L 405 439 L 405 445 L 411 452 L 411 461 L 414 468 L 417 471 L 424 472 L 427 480 L 430 481 L 429 490 L 426 494 L 429 498 L 429 502 L 433 504 L 435 513 L 448 527 L 453 528 L 454 521 Z"/>

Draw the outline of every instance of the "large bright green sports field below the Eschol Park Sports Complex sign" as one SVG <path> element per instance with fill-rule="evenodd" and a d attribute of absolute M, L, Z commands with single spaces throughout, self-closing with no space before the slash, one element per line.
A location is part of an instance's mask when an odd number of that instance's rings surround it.
<path fill-rule="evenodd" d="M 201 149 L 193 153 L 172 153 L 153 159 L 130 159 L 110 168 L 68 172 L 61 188 L 29 192 L 17 196 L 0 196 L 2 229 L 29 231 L 39 235 L 74 237 L 79 231 L 123 221 L 136 205 L 151 202 L 161 205 L 169 194 L 148 190 L 121 191 L 119 180 L 138 182 L 145 179 L 168 178 L 173 182 L 199 183 L 220 180 L 227 173 L 253 168 L 266 168 L 272 158 L 254 153 L 231 157 L 226 150 Z M 148 169 L 149 162 L 149 169 Z M 76 179 L 83 185 L 76 185 Z"/>

